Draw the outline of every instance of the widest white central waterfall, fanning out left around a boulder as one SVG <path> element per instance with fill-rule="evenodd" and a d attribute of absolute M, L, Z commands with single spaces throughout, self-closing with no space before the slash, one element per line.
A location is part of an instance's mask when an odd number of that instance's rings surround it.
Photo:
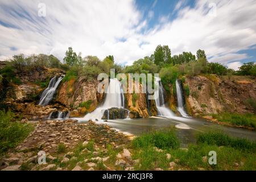
<path fill-rule="evenodd" d="M 108 93 L 106 93 L 106 99 L 102 106 L 98 107 L 92 113 L 86 114 L 83 119 L 86 121 L 92 119 L 93 121 L 101 120 L 105 110 L 112 107 L 124 108 L 125 107 L 125 96 L 123 95 L 122 84 L 117 78 L 110 79 Z"/>

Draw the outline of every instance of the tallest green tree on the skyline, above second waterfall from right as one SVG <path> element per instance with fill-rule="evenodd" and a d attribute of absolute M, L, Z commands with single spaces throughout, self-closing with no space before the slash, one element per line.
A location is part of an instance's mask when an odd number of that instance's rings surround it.
<path fill-rule="evenodd" d="M 151 56 L 152 57 L 152 56 Z M 159 45 L 156 47 L 154 52 L 154 63 L 156 65 L 170 64 L 171 60 L 171 50 L 168 46 Z"/>

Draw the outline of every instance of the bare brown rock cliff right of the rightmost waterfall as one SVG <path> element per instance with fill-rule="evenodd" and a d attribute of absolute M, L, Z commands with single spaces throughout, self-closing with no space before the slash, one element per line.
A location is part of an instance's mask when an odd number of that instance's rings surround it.
<path fill-rule="evenodd" d="M 187 77 L 185 84 L 190 91 L 186 102 L 189 114 L 255 113 L 255 108 L 246 104 L 247 100 L 256 100 L 255 77 L 195 76 Z"/>

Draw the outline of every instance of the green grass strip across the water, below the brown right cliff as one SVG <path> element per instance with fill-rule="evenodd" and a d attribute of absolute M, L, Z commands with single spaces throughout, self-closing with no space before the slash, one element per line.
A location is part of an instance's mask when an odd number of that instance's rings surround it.
<path fill-rule="evenodd" d="M 256 127 L 256 115 L 255 114 L 236 114 L 236 113 L 222 113 L 212 114 L 213 118 L 218 121 L 232 123 L 238 126 Z"/>

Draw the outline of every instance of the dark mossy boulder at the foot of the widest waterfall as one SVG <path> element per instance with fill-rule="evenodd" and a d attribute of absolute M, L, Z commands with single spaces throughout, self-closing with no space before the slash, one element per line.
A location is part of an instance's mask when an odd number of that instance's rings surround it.
<path fill-rule="evenodd" d="M 129 114 L 129 110 L 122 108 L 110 108 L 105 110 L 102 119 L 125 119 Z"/>

